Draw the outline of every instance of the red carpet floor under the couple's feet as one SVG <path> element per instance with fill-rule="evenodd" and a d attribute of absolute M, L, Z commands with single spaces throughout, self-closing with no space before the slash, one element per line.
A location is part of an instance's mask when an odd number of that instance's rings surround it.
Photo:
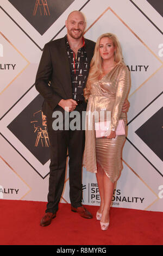
<path fill-rule="evenodd" d="M 0 245 L 163 245 L 163 212 L 111 208 L 110 227 L 100 229 L 96 206 L 86 220 L 60 204 L 57 217 L 40 227 L 44 202 L 0 200 Z"/>

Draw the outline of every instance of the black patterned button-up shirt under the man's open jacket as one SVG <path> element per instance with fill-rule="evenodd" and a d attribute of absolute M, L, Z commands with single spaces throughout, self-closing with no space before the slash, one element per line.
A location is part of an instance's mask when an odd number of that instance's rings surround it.
<path fill-rule="evenodd" d="M 86 83 L 88 72 L 87 54 L 85 51 L 85 41 L 83 38 L 83 46 L 79 48 L 77 56 L 68 44 L 67 35 L 65 36 L 67 55 L 70 64 L 72 97 L 73 100 L 84 101 L 83 89 Z"/>

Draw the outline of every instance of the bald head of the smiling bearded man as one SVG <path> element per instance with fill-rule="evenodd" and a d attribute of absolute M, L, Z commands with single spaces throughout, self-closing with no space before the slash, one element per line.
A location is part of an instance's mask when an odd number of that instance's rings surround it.
<path fill-rule="evenodd" d="M 66 20 L 67 34 L 73 39 L 79 39 L 83 36 L 85 29 L 85 20 L 82 14 L 74 11 Z"/>

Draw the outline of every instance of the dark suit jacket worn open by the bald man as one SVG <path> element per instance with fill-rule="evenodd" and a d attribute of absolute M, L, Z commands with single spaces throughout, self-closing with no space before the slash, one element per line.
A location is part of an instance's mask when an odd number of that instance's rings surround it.
<path fill-rule="evenodd" d="M 95 42 L 85 39 L 85 43 L 87 61 L 90 66 Z M 50 86 L 49 81 L 51 81 Z M 70 65 L 65 38 L 48 42 L 45 45 L 37 70 L 35 87 L 45 99 L 42 111 L 47 117 L 52 117 L 61 99 L 72 99 Z"/>

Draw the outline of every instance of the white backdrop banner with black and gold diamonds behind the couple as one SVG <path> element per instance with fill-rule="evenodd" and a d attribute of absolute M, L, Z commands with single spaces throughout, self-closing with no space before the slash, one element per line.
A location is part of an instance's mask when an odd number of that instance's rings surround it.
<path fill-rule="evenodd" d="M 159 0 L 0 0 L 0 198 L 47 202 L 49 139 L 35 76 L 46 42 L 66 34 L 73 10 L 85 38 L 111 32 L 131 73 L 123 170 L 112 206 L 163 211 L 163 39 Z M 99 205 L 96 175 L 83 168 L 83 204 Z M 70 203 L 68 157 L 61 203 Z"/>

